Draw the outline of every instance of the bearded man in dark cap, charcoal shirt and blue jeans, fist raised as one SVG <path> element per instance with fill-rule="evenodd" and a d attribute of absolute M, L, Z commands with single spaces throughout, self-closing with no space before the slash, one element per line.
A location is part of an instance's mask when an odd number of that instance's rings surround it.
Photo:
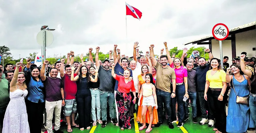
<path fill-rule="evenodd" d="M 120 58 L 120 54 L 118 54 Z M 115 60 L 115 63 L 117 60 Z M 109 105 L 109 116 L 111 118 L 111 122 L 113 125 L 116 124 L 116 116 L 115 116 L 115 100 L 114 100 L 114 78 L 111 75 L 111 70 L 109 69 L 110 62 L 109 60 L 105 59 L 103 61 L 102 66 L 100 67 L 99 62 L 99 47 L 96 47 L 96 54 L 95 54 L 95 63 L 96 66 L 99 68 L 99 91 L 100 91 L 100 106 L 101 106 L 101 117 L 102 117 L 102 124 L 101 127 L 106 126 L 107 120 L 107 103 Z"/>

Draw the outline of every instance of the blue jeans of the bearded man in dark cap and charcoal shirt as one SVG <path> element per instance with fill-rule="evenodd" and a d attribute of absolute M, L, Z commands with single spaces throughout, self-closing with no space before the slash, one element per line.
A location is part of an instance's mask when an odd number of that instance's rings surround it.
<path fill-rule="evenodd" d="M 107 102 L 109 105 L 109 116 L 111 119 L 115 118 L 115 99 L 114 93 L 99 90 L 100 106 L 101 106 L 101 117 L 102 121 L 107 120 Z"/>

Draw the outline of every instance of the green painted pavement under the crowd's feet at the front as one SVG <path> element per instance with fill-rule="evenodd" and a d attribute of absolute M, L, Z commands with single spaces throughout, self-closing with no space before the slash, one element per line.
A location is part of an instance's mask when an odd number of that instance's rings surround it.
<path fill-rule="evenodd" d="M 191 112 L 192 107 L 189 108 L 190 112 Z M 198 122 L 200 121 L 200 118 L 198 118 Z M 107 121 L 107 125 L 106 127 L 102 128 L 100 126 L 100 124 L 97 124 L 97 127 L 95 128 L 94 133 L 135 133 L 135 126 L 134 123 L 132 124 L 132 129 L 128 130 L 128 129 L 124 129 L 124 131 L 121 131 L 119 127 L 112 125 L 112 123 L 110 121 Z M 174 129 L 170 129 L 166 123 L 166 120 L 164 121 L 164 124 L 161 125 L 160 127 L 154 127 L 153 130 L 151 131 L 151 133 L 169 133 L 169 132 L 174 132 L 174 133 L 183 133 L 183 131 L 177 127 L 176 123 L 174 124 Z M 139 124 L 139 127 L 141 125 Z M 208 124 L 205 125 L 200 125 L 199 123 L 194 124 L 192 122 L 192 113 L 189 114 L 189 119 L 184 123 L 183 127 L 186 129 L 186 131 L 188 133 L 215 133 L 215 131 L 213 131 L 213 127 L 208 127 Z M 67 133 L 66 131 L 67 127 L 66 126 L 62 126 L 61 130 L 64 133 Z M 92 129 L 92 127 L 91 127 Z M 145 133 L 145 130 L 140 131 L 140 133 Z M 187 132 L 184 133 L 187 133 Z M 79 128 L 73 128 L 73 133 L 93 133 L 92 130 L 84 130 L 84 131 L 80 131 Z"/>

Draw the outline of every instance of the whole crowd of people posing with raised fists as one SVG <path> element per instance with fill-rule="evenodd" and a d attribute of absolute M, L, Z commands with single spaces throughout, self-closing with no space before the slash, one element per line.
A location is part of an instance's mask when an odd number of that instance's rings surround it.
<path fill-rule="evenodd" d="M 21 69 L 7 64 L 5 76 L 1 75 L 0 65 L 1 131 L 41 133 L 45 110 L 48 133 L 53 132 L 52 122 L 54 132 L 62 133 L 61 114 L 65 115 L 67 132 L 72 132 L 75 127 L 90 130 L 91 123 L 105 127 L 108 112 L 110 122 L 120 130 L 132 128 L 136 113 L 136 121 L 141 123 L 139 130 L 149 133 L 160 127 L 165 118 L 169 128 L 174 128 L 177 121 L 177 127 L 182 127 L 189 119 L 190 104 L 193 123 L 198 123 L 197 113 L 201 112 L 199 123 L 208 123 L 216 133 L 244 133 L 255 128 L 255 58 L 242 53 L 230 66 L 225 56 L 221 67 L 220 59 L 214 58 L 210 49 L 205 49 L 210 58 L 207 63 L 200 56 L 187 59 L 187 48 L 181 58 L 171 56 L 167 42 L 166 55 L 161 49 L 160 58 L 155 58 L 152 44 L 146 56 L 141 56 L 138 44 L 134 43 L 131 60 L 120 55 L 120 49 L 114 45 L 109 59 L 102 62 L 100 47 L 96 47 L 95 61 L 89 48 L 86 62 L 82 54 L 81 62 L 74 62 L 74 52 L 70 51 L 67 59 L 53 65 L 45 60 L 41 68 L 30 64 L 31 59 L 24 67 L 21 62 L 16 63 Z M 237 96 L 244 102 L 238 102 Z"/>

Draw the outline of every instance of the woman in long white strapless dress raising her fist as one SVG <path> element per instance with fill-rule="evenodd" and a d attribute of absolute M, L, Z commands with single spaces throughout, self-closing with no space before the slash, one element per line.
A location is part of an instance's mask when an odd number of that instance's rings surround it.
<path fill-rule="evenodd" d="M 16 68 L 21 64 L 16 63 Z M 4 115 L 3 133 L 30 133 L 25 104 L 25 97 L 28 94 L 26 88 L 25 74 L 15 69 L 10 83 L 10 102 Z"/>

